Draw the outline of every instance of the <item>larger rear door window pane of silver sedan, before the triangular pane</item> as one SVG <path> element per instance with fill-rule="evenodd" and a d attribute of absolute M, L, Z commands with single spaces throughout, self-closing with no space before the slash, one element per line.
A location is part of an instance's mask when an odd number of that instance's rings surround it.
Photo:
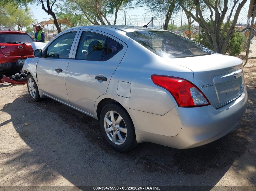
<path fill-rule="evenodd" d="M 83 32 L 76 53 L 77 59 L 100 60 L 107 37 L 98 33 Z"/>

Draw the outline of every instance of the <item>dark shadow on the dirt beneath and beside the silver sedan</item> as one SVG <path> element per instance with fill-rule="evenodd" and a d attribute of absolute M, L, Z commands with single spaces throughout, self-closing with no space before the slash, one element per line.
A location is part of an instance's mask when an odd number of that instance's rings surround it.
<path fill-rule="evenodd" d="M 16 131 L 31 149 L 12 153 L 4 165 L 28 168 L 31 183 L 53 181 L 60 174 L 74 185 L 214 186 L 235 160 L 245 163 L 239 170 L 251 165 L 240 159 L 245 152 L 255 156 L 255 149 L 249 149 L 255 135 L 255 89 L 248 85 L 248 109 L 223 138 L 186 150 L 142 143 L 125 154 L 105 144 L 97 120 L 51 99 L 34 103 L 25 94 L 1 111 L 11 115 L 15 129 L 30 123 Z M 256 177 L 255 171 L 250 177 Z"/>

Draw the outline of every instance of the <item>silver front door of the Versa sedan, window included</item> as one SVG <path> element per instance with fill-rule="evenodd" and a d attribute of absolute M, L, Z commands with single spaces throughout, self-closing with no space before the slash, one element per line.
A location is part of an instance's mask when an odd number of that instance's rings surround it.
<path fill-rule="evenodd" d="M 44 50 L 37 66 L 37 80 L 40 90 L 58 100 L 68 103 L 65 73 L 73 53 L 78 30 L 69 30 L 57 37 Z"/>

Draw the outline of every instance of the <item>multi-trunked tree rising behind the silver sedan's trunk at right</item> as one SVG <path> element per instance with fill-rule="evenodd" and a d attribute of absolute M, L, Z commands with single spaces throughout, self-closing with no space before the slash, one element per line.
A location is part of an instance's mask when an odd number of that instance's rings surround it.
<path fill-rule="evenodd" d="M 179 3 L 179 5 L 188 15 L 200 24 L 214 51 L 224 54 L 227 50 L 229 39 L 234 33 L 241 8 L 244 6 L 246 1 L 247 0 L 194 0 L 194 13 L 186 10 L 183 3 Z M 230 4 L 230 8 L 228 8 L 228 3 Z M 202 11 L 204 10 L 203 7 L 208 8 L 210 11 L 210 24 L 207 23 L 207 18 L 202 14 Z M 226 14 L 229 10 L 230 13 L 228 15 L 227 22 L 224 25 L 224 30 L 221 31 L 221 24 L 223 23 L 224 18 L 227 18 Z M 234 16 L 233 21 L 231 21 L 232 16 Z M 232 24 L 224 38 L 224 31 L 228 28 L 229 21 L 231 21 Z"/>

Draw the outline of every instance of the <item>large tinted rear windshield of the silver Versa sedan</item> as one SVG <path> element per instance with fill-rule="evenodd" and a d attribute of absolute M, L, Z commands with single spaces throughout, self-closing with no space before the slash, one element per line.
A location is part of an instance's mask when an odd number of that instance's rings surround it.
<path fill-rule="evenodd" d="M 144 30 L 126 33 L 126 35 L 162 57 L 183 58 L 215 53 L 170 31 Z"/>

